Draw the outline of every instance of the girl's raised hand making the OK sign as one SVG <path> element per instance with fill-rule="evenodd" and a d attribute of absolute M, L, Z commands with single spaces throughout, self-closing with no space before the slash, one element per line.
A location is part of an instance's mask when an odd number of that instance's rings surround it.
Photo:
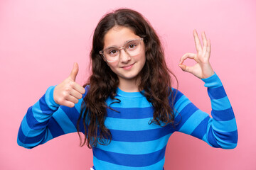
<path fill-rule="evenodd" d="M 201 46 L 201 42 L 198 38 L 198 33 L 196 30 L 193 30 L 193 36 L 196 43 L 196 51 L 197 54 L 186 53 L 181 57 L 179 67 L 185 72 L 190 72 L 195 75 L 199 79 L 206 79 L 214 74 L 212 67 L 210 66 L 210 40 L 206 39 L 206 33 L 202 33 L 203 38 L 203 49 Z M 193 59 L 196 61 L 196 64 L 192 67 L 188 67 L 183 64 L 184 60 L 187 58 Z"/>

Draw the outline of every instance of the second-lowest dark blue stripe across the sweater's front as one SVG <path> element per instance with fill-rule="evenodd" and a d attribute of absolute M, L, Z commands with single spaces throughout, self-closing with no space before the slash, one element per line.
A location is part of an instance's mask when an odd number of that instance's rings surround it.
<path fill-rule="evenodd" d="M 163 128 L 154 130 L 139 130 L 139 131 L 124 131 L 124 130 L 111 130 L 112 140 L 122 142 L 146 142 L 150 140 L 158 140 L 174 132 L 171 124 Z"/>

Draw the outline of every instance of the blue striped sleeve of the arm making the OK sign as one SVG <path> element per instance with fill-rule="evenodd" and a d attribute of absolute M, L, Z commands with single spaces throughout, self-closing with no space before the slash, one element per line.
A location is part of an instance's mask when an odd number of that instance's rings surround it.
<path fill-rule="evenodd" d="M 174 89 L 174 93 L 177 92 L 174 101 L 176 131 L 198 137 L 212 147 L 233 149 L 238 142 L 238 130 L 223 84 L 217 74 L 202 80 L 208 88 L 212 118 Z"/>

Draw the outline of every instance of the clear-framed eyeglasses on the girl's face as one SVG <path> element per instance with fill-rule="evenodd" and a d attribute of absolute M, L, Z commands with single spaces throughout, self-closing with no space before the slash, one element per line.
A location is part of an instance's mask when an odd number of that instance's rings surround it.
<path fill-rule="evenodd" d="M 122 47 L 107 47 L 105 50 L 100 51 L 100 55 L 102 55 L 105 60 L 107 60 L 107 62 L 117 61 L 122 49 L 124 49 L 124 51 L 127 52 L 129 56 L 139 55 L 142 50 L 142 40 L 143 38 L 129 40 L 125 42 L 124 46 Z"/>

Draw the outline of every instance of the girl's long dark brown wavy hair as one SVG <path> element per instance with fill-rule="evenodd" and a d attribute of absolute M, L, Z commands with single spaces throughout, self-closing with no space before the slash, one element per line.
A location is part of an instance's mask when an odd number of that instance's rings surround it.
<path fill-rule="evenodd" d="M 107 106 L 105 101 L 110 97 L 120 102 L 114 98 L 117 95 L 119 79 L 99 52 L 104 47 L 105 34 L 114 26 L 130 28 L 134 34 L 144 40 L 146 62 L 139 73 L 141 78 L 139 91 L 144 90 L 144 96 L 154 107 L 154 118 L 149 124 L 174 123 L 174 94 L 171 89 L 170 74 L 174 77 L 175 75 L 166 66 L 164 50 L 159 37 L 141 13 L 128 8 L 119 8 L 101 18 L 93 35 L 90 52 L 92 75 L 84 85 L 84 87 L 87 85 L 90 87 L 83 98 L 77 123 L 81 147 L 85 144 L 89 148 L 95 147 L 97 144 L 108 145 L 112 140 L 111 132 L 104 124 L 107 108 L 112 108 Z M 170 95 L 172 100 L 169 100 Z M 85 129 L 83 141 L 79 129 L 81 118 Z"/>

